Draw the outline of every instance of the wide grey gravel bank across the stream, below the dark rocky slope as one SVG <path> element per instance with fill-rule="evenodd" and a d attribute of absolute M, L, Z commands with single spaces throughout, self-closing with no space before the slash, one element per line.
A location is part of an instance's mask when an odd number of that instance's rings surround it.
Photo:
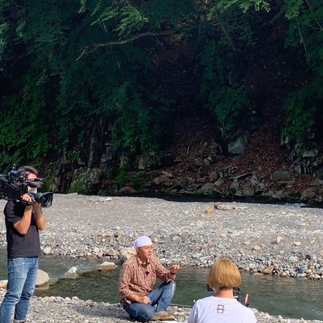
<path fill-rule="evenodd" d="M 5 203 L 0 201 L 1 212 Z M 41 247 L 60 257 L 118 262 L 121 249 L 147 234 L 165 265 L 209 267 L 227 256 L 241 270 L 323 279 L 322 209 L 226 204 L 237 209 L 206 214 L 213 203 L 55 194 L 53 206 L 44 210 Z M 6 244 L 4 220 L 0 243 Z"/>

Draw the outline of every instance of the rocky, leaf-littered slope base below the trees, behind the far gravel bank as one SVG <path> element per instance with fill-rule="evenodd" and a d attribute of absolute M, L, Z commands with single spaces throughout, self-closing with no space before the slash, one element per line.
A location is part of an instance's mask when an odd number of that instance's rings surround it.
<path fill-rule="evenodd" d="M 196 134 L 194 120 L 188 122 L 190 130 L 179 128 L 181 131 L 162 155 L 142 155 L 136 159 L 114 151 L 107 142 L 105 149 L 99 150 L 103 154 L 96 167 L 85 167 L 88 161 L 50 164 L 46 190 L 99 195 L 162 192 L 323 200 L 323 155 L 318 148 L 302 151 L 300 155 L 295 150 L 297 144 L 291 148 L 286 138 L 280 144 L 268 140 L 269 130 L 264 127 L 230 142 L 221 138 L 215 141 L 212 132 L 206 129 Z M 203 129 L 208 127 L 204 122 Z M 291 149 L 297 155 L 291 156 Z M 89 156 L 93 154 L 95 151 Z"/>

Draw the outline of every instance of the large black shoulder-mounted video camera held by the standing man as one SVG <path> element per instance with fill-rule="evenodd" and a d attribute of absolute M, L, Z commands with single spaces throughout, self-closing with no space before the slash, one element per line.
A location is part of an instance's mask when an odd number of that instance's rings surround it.
<path fill-rule="evenodd" d="M 45 182 L 44 178 L 33 178 L 28 180 L 27 177 L 21 176 L 21 173 L 16 170 L 16 165 L 13 165 L 12 170 L 7 175 L 0 174 L 0 199 L 7 201 L 15 201 L 24 205 L 33 205 L 36 202 L 41 203 L 42 207 L 50 207 L 53 202 L 53 193 L 30 193 L 29 187 L 35 187 L 40 190 Z M 21 201 L 21 196 L 28 194 L 32 202 Z"/>

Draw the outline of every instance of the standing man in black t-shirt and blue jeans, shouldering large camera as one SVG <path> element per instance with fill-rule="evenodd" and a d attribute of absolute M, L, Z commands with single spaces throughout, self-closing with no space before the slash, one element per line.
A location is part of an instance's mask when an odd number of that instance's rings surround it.
<path fill-rule="evenodd" d="M 27 179 L 37 178 L 37 171 L 31 166 L 23 166 L 18 171 Z M 36 193 L 36 188 L 28 187 L 28 192 Z M 31 197 L 24 194 L 21 200 L 31 202 Z M 0 307 L 0 322 L 9 323 L 15 307 L 14 323 L 23 323 L 36 287 L 40 254 L 38 230 L 44 230 L 46 223 L 40 203 L 25 206 L 9 201 L 5 205 L 4 214 L 7 230 L 8 283 Z"/>

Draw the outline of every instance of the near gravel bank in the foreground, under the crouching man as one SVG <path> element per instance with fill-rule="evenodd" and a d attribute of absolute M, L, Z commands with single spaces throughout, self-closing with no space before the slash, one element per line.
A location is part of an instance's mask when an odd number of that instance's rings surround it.
<path fill-rule="evenodd" d="M 0 289 L 0 301 L 5 290 Z M 190 308 L 170 307 L 169 312 L 175 315 L 176 321 L 185 322 Z M 268 313 L 254 309 L 258 323 L 318 323 L 318 320 L 284 319 L 270 316 Z M 133 323 L 119 304 L 95 303 L 91 300 L 80 300 L 77 297 L 33 297 L 27 314 L 26 323 Z"/>

